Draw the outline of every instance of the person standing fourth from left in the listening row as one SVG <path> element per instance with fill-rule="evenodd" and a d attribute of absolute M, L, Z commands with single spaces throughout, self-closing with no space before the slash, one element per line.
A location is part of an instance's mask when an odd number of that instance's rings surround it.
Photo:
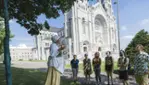
<path fill-rule="evenodd" d="M 111 52 L 108 51 L 106 52 L 106 58 L 105 58 L 105 71 L 107 73 L 107 77 L 108 77 L 108 85 L 110 85 L 110 78 L 111 78 L 111 82 L 113 85 L 113 68 L 114 68 L 114 61 L 113 58 L 111 56 Z"/>

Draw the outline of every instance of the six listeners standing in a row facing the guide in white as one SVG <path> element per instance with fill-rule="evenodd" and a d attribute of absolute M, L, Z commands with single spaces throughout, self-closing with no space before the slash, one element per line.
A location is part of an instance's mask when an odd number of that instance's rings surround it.
<path fill-rule="evenodd" d="M 144 47 L 141 44 L 136 46 L 136 50 L 138 51 L 137 56 L 134 58 L 134 73 L 136 82 L 139 85 L 149 85 L 149 55 L 144 51 Z M 99 52 L 96 52 L 93 60 L 91 61 L 88 58 L 88 55 L 85 54 L 85 59 L 83 60 L 83 71 L 86 79 L 86 84 L 90 84 L 90 75 L 92 74 L 92 67 L 95 73 L 96 84 L 101 84 L 101 63 L 102 60 L 100 58 Z M 128 82 L 128 69 L 129 69 L 129 58 L 125 56 L 125 52 L 123 50 L 120 51 L 120 57 L 118 59 L 118 70 L 119 70 L 119 79 L 122 81 L 123 85 L 130 85 Z M 74 55 L 74 59 L 71 60 L 71 67 L 73 73 L 73 79 L 77 81 L 77 74 L 79 68 L 79 60 L 77 56 Z M 105 57 L 105 71 L 107 73 L 108 85 L 113 85 L 113 70 L 114 70 L 114 60 L 110 51 L 106 52 Z"/>

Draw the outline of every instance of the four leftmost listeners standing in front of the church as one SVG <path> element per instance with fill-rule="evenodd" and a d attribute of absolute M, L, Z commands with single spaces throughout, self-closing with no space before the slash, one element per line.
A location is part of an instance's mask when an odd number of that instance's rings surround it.
<path fill-rule="evenodd" d="M 106 58 L 105 58 L 105 70 L 108 76 L 108 84 L 110 84 L 110 78 L 111 78 L 111 83 L 113 85 L 113 77 L 112 77 L 112 73 L 113 73 L 113 68 L 114 68 L 114 61 L 113 58 L 111 56 L 111 52 L 108 51 L 106 52 Z M 77 74 L 78 74 L 78 69 L 79 69 L 79 60 L 77 59 L 77 56 L 74 55 L 74 58 L 71 60 L 71 67 L 72 67 L 72 73 L 73 73 L 73 79 L 75 81 L 77 81 Z M 84 55 L 85 59 L 83 60 L 83 71 L 84 71 L 84 75 L 85 75 L 85 81 L 86 84 L 90 84 L 90 77 L 92 74 L 92 66 L 93 66 L 93 70 L 95 73 L 95 79 L 96 79 L 96 83 L 97 85 L 101 84 L 101 63 L 102 60 L 100 58 L 100 53 L 96 52 L 94 54 L 94 58 L 91 61 L 88 58 L 88 54 Z"/>

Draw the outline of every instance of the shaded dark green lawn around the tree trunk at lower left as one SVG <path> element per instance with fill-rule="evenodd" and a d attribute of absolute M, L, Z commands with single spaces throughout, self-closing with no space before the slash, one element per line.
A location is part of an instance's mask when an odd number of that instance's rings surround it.
<path fill-rule="evenodd" d="M 12 85 L 44 85 L 46 72 L 31 69 L 12 69 Z M 6 85 L 3 64 L 0 64 L 0 85 Z M 70 85 L 71 81 L 61 80 L 61 85 Z"/>

